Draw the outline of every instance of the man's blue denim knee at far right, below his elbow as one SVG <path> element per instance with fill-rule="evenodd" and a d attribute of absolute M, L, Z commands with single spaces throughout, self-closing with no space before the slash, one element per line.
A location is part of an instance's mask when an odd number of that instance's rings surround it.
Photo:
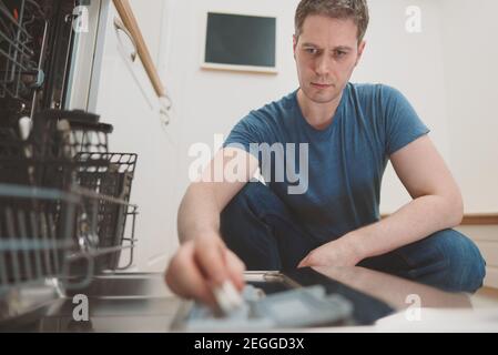
<path fill-rule="evenodd" d="M 399 251 L 415 266 L 414 278 L 427 276 L 448 291 L 475 292 L 482 286 L 486 263 L 476 244 L 455 230 L 436 232 Z"/>

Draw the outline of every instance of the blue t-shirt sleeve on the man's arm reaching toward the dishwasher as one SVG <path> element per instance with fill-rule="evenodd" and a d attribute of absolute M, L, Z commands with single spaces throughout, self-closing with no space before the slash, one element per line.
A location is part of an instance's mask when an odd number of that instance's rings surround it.
<path fill-rule="evenodd" d="M 267 142 L 267 128 L 264 122 L 253 111 L 241 121 L 230 132 L 226 140 L 223 142 L 223 148 L 238 148 L 245 150 L 247 153 L 258 158 L 257 150 L 251 149 L 252 144 L 258 145 Z"/>

